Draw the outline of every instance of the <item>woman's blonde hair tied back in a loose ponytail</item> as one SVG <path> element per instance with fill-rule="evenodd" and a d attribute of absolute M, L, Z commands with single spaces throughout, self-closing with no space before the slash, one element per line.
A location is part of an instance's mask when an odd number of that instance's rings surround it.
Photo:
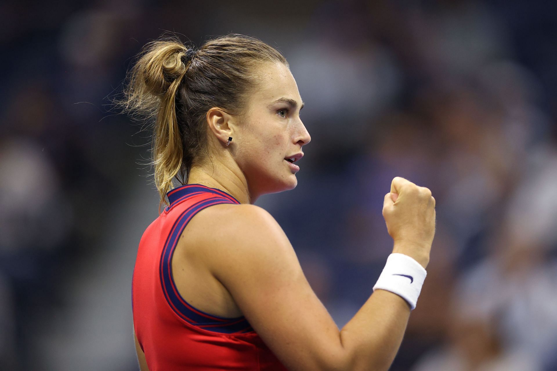
<path fill-rule="evenodd" d="M 168 204 L 173 179 L 187 184 L 194 162 L 208 154 L 206 112 L 241 113 L 256 84 L 253 68 L 264 61 L 288 66 L 275 48 L 240 34 L 211 39 L 197 51 L 176 37 L 145 45 L 119 105 L 154 121 L 152 164 L 161 204 Z"/>

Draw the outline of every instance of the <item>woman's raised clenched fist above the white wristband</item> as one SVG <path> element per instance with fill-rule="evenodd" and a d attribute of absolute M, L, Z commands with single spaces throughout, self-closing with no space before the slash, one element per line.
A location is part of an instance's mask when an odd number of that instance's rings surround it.
<path fill-rule="evenodd" d="M 411 256 L 426 268 L 435 234 L 435 199 L 431 191 L 395 177 L 385 195 L 383 217 L 394 240 L 393 253 Z"/>

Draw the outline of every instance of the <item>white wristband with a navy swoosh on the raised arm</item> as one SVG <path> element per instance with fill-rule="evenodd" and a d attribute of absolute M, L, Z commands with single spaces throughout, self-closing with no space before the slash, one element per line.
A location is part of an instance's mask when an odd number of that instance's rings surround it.
<path fill-rule="evenodd" d="M 426 275 L 427 271 L 416 260 L 408 255 L 393 253 L 387 258 L 373 291 L 382 289 L 395 293 L 414 309 Z"/>

